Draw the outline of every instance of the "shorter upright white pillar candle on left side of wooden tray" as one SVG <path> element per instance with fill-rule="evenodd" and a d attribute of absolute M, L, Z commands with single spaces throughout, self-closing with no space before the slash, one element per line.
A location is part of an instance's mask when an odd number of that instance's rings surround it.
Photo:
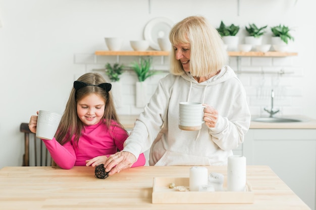
<path fill-rule="evenodd" d="M 190 168 L 190 191 L 198 191 L 201 185 L 208 184 L 207 168 L 193 166 Z"/>

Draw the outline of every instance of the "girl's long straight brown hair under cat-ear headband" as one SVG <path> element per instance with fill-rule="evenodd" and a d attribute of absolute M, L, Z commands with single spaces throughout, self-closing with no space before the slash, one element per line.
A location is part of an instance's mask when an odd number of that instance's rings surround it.
<path fill-rule="evenodd" d="M 107 92 L 106 90 L 96 86 L 101 83 L 106 83 L 106 80 L 98 73 L 86 73 L 79 77 L 77 81 L 89 84 L 89 86 L 85 86 L 78 90 L 72 87 L 65 112 L 56 133 L 56 140 L 61 145 L 71 141 L 73 135 L 75 135 L 74 141 L 78 143 L 84 124 L 77 115 L 77 102 L 92 93 L 104 99 L 104 123 L 110 127 L 111 120 L 114 120 L 122 126 L 116 113 L 111 91 Z"/>

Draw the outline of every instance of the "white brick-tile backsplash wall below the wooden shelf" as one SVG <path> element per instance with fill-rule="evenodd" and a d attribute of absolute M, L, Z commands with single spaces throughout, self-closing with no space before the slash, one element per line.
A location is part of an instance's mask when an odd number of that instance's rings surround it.
<path fill-rule="evenodd" d="M 129 69 L 139 56 L 96 56 L 94 54 L 76 53 L 74 62 L 82 65 L 85 72 L 98 72 L 110 81 L 105 72 L 107 62 L 120 62 L 126 66 L 121 76 L 122 99 L 117 107 L 119 114 L 139 114 L 142 108 L 135 106 L 135 73 Z M 247 100 L 252 115 L 269 114 L 264 108 L 271 109 L 271 90 L 274 89 L 274 108 L 280 109 L 276 116 L 299 115 L 302 112 L 302 70 L 296 66 L 296 57 L 231 57 L 229 65 L 235 70 L 245 87 Z M 239 66 L 239 69 L 238 69 Z M 153 56 L 152 69 L 161 71 L 148 78 L 147 97 L 153 94 L 158 81 L 168 74 L 169 57 Z M 284 73 L 284 74 L 283 74 Z M 75 79 L 80 75 L 75 75 Z M 294 85 L 295 84 L 295 85 Z M 114 96 L 115 97 L 115 96 Z"/>

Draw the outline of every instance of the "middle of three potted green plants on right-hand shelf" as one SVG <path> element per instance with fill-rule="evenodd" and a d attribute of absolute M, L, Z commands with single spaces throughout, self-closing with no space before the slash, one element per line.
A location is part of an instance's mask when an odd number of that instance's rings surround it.
<path fill-rule="evenodd" d="M 251 44 L 252 47 L 255 47 L 256 45 L 261 45 L 262 35 L 266 33 L 265 29 L 267 27 L 268 25 L 257 27 L 254 23 L 252 24 L 249 23 L 249 27 L 245 26 L 245 29 L 248 33 L 248 36 L 245 36 L 245 43 Z"/>

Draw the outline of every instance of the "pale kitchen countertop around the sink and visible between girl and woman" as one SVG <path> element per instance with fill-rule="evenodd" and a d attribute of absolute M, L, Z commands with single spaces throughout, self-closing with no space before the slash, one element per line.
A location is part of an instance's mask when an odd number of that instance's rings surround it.
<path fill-rule="evenodd" d="M 134 127 L 134 122 L 138 115 L 119 115 L 120 121 L 125 129 Z M 250 129 L 316 129 L 316 119 L 306 116 L 293 115 L 284 116 L 286 118 L 301 119 L 301 122 L 255 122 L 251 121 Z"/>

